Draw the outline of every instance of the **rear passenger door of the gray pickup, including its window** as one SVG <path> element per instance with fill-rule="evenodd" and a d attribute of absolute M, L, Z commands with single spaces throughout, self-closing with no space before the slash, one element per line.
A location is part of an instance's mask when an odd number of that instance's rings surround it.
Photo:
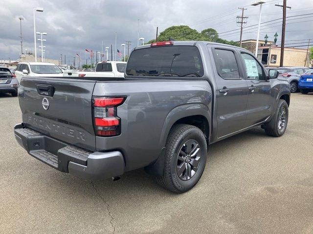
<path fill-rule="evenodd" d="M 217 84 L 218 137 L 237 132 L 246 120 L 247 83 L 238 54 L 229 47 L 212 48 Z"/>

